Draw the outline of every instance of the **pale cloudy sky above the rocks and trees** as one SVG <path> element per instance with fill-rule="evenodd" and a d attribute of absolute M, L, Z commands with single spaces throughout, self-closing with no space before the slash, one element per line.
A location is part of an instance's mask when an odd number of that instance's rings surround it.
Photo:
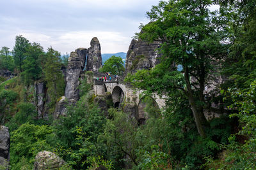
<path fill-rule="evenodd" d="M 0 0 L 0 47 L 15 36 L 52 46 L 65 54 L 90 47 L 97 37 L 102 53 L 127 52 L 146 11 L 159 0 Z"/>

